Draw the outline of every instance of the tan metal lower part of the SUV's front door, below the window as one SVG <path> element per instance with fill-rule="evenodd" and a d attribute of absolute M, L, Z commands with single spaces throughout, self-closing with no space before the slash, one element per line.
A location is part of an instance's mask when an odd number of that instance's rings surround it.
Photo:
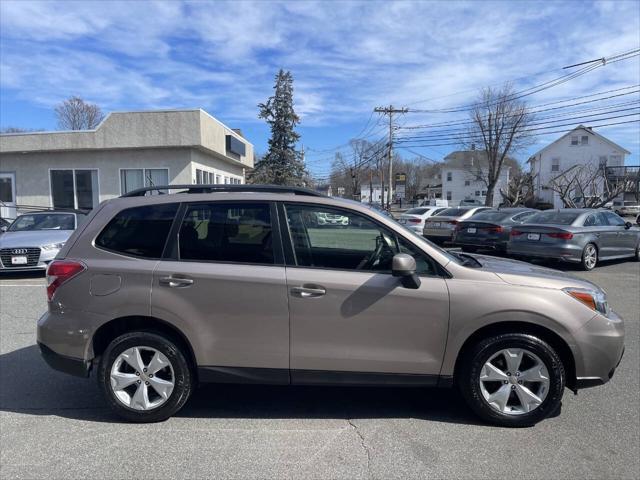
<path fill-rule="evenodd" d="M 292 380 L 296 370 L 438 375 L 449 293 L 442 278 L 421 281 L 412 290 L 389 274 L 287 268 Z M 326 294 L 291 293 L 306 284 Z"/>

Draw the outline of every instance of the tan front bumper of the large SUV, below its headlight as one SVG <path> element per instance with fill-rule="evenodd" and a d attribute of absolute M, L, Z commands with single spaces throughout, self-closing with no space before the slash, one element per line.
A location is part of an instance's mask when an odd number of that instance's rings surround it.
<path fill-rule="evenodd" d="M 615 312 L 600 314 L 574 332 L 576 388 L 607 383 L 624 353 L 624 321 Z"/>

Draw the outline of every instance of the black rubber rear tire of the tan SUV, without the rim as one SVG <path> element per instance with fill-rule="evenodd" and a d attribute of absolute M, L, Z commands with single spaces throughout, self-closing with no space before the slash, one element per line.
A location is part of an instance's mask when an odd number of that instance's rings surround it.
<path fill-rule="evenodd" d="M 168 400 L 149 410 L 136 410 L 126 406 L 116 397 L 111 387 L 111 368 L 117 357 L 129 348 L 141 346 L 151 347 L 164 354 L 173 369 L 174 386 Z M 180 348 L 162 335 L 145 331 L 125 333 L 113 340 L 102 355 L 97 377 L 109 407 L 120 417 L 138 423 L 161 422 L 171 417 L 184 406 L 194 387 L 194 376 Z"/>

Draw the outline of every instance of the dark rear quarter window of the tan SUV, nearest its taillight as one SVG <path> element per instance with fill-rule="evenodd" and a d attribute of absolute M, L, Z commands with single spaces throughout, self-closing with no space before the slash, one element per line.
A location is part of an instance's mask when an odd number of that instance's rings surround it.
<path fill-rule="evenodd" d="M 126 255 L 160 258 L 178 204 L 127 208 L 96 238 L 96 246 Z"/>

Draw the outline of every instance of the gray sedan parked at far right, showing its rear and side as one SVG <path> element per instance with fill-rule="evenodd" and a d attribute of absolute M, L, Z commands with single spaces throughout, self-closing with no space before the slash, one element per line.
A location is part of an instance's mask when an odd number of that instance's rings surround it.
<path fill-rule="evenodd" d="M 539 212 L 511 230 L 508 253 L 557 259 L 592 270 L 600 260 L 640 260 L 640 230 L 608 210 Z"/>

